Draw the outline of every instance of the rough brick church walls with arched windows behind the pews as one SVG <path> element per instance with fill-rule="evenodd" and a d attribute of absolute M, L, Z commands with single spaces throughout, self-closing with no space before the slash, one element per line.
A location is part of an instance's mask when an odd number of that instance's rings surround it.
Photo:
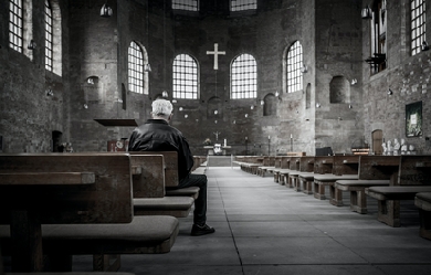
<path fill-rule="evenodd" d="M 431 150 L 429 11 L 411 18 L 410 1 L 23 0 L 19 13 L 10 2 L 3 152 L 109 151 L 158 97 L 196 155 L 207 139 L 233 155 L 379 155 L 395 139 Z"/>

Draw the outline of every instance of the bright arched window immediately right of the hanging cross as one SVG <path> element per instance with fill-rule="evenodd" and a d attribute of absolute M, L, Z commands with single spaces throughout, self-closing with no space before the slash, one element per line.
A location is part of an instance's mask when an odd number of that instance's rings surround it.
<path fill-rule="evenodd" d="M 231 65 L 231 98 L 257 97 L 257 65 L 250 54 L 241 54 Z"/>

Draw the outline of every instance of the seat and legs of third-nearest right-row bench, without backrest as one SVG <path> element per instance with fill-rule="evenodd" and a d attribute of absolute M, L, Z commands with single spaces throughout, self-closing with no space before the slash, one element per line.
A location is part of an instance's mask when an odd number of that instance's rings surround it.
<path fill-rule="evenodd" d="M 337 180 L 334 183 L 330 203 L 343 207 L 343 191 L 350 192 L 350 210 L 360 214 L 367 213 L 367 195 L 365 189 L 369 187 L 389 186 L 390 180 Z"/>

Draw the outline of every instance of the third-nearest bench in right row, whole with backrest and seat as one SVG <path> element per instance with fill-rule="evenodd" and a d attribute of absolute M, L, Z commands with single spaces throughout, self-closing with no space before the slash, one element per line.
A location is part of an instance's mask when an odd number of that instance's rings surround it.
<path fill-rule="evenodd" d="M 337 180 L 334 184 L 334 194 L 330 203 L 344 205 L 343 191 L 350 192 L 350 210 L 361 214 L 367 213 L 367 195 L 365 189 L 372 186 L 389 186 L 395 179 L 399 166 L 398 156 L 360 156 L 359 179 Z"/>

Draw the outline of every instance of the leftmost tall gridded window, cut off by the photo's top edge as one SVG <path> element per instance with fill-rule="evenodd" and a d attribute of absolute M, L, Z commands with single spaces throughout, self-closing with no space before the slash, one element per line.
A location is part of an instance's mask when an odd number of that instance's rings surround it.
<path fill-rule="evenodd" d="M 23 12 L 22 0 L 9 1 L 9 46 L 22 53 Z"/>

